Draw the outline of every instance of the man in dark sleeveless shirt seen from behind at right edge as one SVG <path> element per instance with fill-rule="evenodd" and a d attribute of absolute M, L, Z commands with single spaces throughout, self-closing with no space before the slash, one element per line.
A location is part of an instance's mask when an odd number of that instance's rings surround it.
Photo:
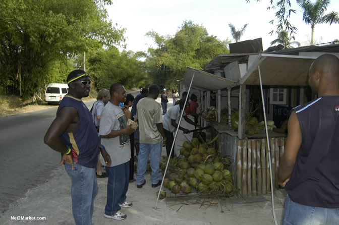
<path fill-rule="evenodd" d="M 339 59 L 318 57 L 308 83 L 319 97 L 293 109 L 279 165 L 282 224 L 339 224 Z"/>

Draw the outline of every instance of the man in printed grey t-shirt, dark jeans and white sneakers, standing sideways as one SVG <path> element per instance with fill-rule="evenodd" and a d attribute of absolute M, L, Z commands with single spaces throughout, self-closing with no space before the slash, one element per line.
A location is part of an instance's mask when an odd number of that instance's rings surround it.
<path fill-rule="evenodd" d="M 120 211 L 121 207 L 131 207 L 126 201 L 126 193 L 130 177 L 130 134 L 133 128 L 127 126 L 125 114 L 119 103 L 126 101 L 126 90 L 123 85 L 115 83 L 109 88 L 110 100 L 101 111 L 99 135 L 102 145 L 111 158 L 109 167 L 105 167 L 108 175 L 107 202 L 104 217 L 122 220 L 127 217 Z M 100 157 L 102 164 L 104 159 Z"/>

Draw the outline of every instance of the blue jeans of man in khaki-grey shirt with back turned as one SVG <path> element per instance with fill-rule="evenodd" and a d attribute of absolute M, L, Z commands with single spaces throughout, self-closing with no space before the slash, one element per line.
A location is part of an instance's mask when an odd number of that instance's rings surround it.
<path fill-rule="evenodd" d="M 150 156 L 151 162 L 150 166 L 152 169 L 151 180 L 152 184 L 157 184 L 160 180 L 160 173 L 159 173 L 159 163 L 160 163 L 160 156 L 162 150 L 162 142 L 157 144 L 144 144 L 140 143 L 140 151 L 138 156 L 138 172 L 135 176 L 137 180 L 137 184 L 144 183 L 144 175 L 147 168 L 147 161 L 148 157 Z"/>

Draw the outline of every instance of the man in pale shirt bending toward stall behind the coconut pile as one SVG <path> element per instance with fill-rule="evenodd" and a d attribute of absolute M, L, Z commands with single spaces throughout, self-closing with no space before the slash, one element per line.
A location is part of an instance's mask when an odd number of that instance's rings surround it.
<path fill-rule="evenodd" d="M 180 114 L 181 114 L 181 110 L 184 108 L 184 104 L 185 104 L 185 99 L 183 98 L 180 99 L 179 104 L 168 109 L 165 116 L 162 119 L 163 132 L 165 133 L 165 136 L 166 136 L 167 157 L 170 157 L 171 148 L 174 142 L 173 132 L 175 131 L 176 128 L 178 128 Z M 185 119 L 187 123 L 196 126 L 196 124 L 186 116 L 185 111 L 183 113 L 183 118 Z M 179 127 L 179 130 L 182 130 L 184 134 L 188 134 L 189 132 L 188 129 L 185 129 L 183 127 Z M 175 154 L 173 150 L 171 157 L 174 157 L 174 156 Z"/>

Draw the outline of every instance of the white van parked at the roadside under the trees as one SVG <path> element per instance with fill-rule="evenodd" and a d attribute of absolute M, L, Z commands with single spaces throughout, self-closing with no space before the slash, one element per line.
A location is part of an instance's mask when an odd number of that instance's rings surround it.
<path fill-rule="evenodd" d="M 68 93 L 67 84 L 51 83 L 47 85 L 45 91 L 45 102 L 60 103 L 61 99 Z"/>

